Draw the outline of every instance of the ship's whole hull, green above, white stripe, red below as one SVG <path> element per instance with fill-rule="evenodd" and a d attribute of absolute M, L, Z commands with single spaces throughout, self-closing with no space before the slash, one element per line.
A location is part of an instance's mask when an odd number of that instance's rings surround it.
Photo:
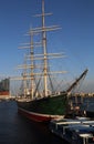
<path fill-rule="evenodd" d="M 18 100 L 17 103 L 20 114 L 36 122 L 64 117 L 66 113 L 66 97 L 63 95 L 27 102 Z"/>

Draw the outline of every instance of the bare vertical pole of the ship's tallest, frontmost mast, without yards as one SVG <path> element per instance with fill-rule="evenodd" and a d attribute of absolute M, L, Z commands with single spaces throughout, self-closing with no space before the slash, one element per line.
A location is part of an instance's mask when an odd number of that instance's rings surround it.
<path fill-rule="evenodd" d="M 42 45 L 44 53 L 44 96 L 48 95 L 48 58 L 46 58 L 46 32 L 44 19 L 44 0 L 42 0 Z"/>

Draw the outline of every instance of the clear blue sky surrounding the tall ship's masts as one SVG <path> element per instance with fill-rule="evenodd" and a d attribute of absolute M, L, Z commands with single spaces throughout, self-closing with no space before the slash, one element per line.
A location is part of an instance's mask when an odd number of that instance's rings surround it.
<path fill-rule="evenodd" d="M 45 0 L 46 25 L 60 25 L 56 34 L 49 34 L 52 52 L 64 52 L 61 61 L 76 79 L 86 68 L 84 91 L 94 92 L 94 0 Z M 27 39 L 30 27 L 39 27 L 41 0 L 0 0 L 0 78 L 18 74 L 23 61 L 19 45 Z"/>

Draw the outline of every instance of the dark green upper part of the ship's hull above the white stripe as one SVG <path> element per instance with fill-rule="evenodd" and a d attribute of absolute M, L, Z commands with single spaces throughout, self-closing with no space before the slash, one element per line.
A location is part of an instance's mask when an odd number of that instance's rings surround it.
<path fill-rule="evenodd" d="M 18 105 L 30 112 L 49 115 L 65 115 L 67 111 L 66 95 L 49 96 L 29 102 L 18 102 Z"/>

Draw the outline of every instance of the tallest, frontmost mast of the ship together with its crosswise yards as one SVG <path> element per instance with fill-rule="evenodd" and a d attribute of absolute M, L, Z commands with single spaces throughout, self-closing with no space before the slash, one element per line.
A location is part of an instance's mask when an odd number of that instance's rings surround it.
<path fill-rule="evenodd" d="M 46 50 L 46 32 L 48 31 L 54 31 L 60 29 L 58 25 L 51 25 L 51 27 L 45 27 L 45 16 L 51 16 L 52 13 L 45 13 L 44 11 L 44 0 L 42 0 L 42 13 L 36 14 L 36 17 L 42 17 L 42 27 L 33 29 L 34 33 L 42 32 L 42 48 L 43 48 L 43 81 L 44 81 L 44 88 L 43 88 L 43 95 L 48 96 L 48 76 L 52 73 L 65 73 L 64 71 L 61 72 L 50 72 L 49 71 L 49 64 L 48 64 L 48 59 L 53 59 L 53 58 L 61 58 L 62 53 L 48 53 Z"/>

